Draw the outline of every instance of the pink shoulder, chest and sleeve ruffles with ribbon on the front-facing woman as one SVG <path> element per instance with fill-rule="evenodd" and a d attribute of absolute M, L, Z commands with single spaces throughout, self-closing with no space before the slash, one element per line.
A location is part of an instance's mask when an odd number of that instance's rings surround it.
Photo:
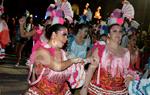
<path fill-rule="evenodd" d="M 110 65 L 110 73 L 112 77 L 117 74 L 118 69 L 124 78 L 131 75 L 135 79 L 139 79 L 139 76 L 136 74 L 136 72 L 129 70 L 130 53 L 128 50 L 126 51 L 126 54 L 123 56 L 123 58 L 115 58 L 115 60 L 113 60 L 113 56 L 111 56 L 105 45 L 102 45 L 100 42 L 96 42 L 92 51 L 94 51 L 96 48 L 98 48 L 98 56 L 100 58 L 100 64 L 98 66 L 98 74 L 96 80 L 97 84 L 100 84 L 100 68 L 104 68 L 106 71 L 109 71 L 107 68 L 108 65 Z M 107 58 L 110 60 L 107 60 Z M 114 64 L 109 64 L 112 63 L 111 61 L 113 61 Z"/>

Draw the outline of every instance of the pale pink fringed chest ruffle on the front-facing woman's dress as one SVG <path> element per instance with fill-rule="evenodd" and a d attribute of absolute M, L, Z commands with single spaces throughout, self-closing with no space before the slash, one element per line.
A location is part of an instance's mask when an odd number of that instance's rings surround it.
<path fill-rule="evenodd" d="M 101 66 L 106 71 L 109 71 L 112 77 L 114 77 L 117 74 L 117 71 L 119 71 L 120 74 L 124 76 L 124 74 L 128 72 L 129 63 L 130 63 L 129 51 L 126 51 L 125 55 L 123 55 L 122 57 L 116 57 L 107 48 L 104 50 Z"/>

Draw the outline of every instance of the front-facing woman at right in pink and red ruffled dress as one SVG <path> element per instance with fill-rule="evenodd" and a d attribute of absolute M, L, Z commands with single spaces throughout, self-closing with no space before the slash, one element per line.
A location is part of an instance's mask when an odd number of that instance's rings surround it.
<path fill-rule="evenodd" d="M 81 95 L 128 95 L 129 82 L 138 77 L 129 70 L 129 50 L 120 46 L 121 31 L 119 24 L 112 24 L 107 44 L 95 43 L 95 61 L 88 68 Z"/>

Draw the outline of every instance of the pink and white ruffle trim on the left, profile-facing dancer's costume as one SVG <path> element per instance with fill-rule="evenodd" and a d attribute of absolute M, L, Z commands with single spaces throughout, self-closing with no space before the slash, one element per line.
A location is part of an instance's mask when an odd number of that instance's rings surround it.
<path fill-rule="evenodd" d="M 45 49 L 48 49 L 48 51 L 50 51 L 50 53 L 52 53 L 52 55 L 54 56 L 55 54 L 55 49 L 54 48 L 51 48 L 50 46 L 48 46 L 47 43 L 41 43 L 40 41 L 38 41 L 35 46 L 33 47 L 32 49 L 32 54 L 31 54 L 31 57 L 30 57 L 30 61 L 31 61 L 31 67 L 30 67 L 30 72 L 29 72 L 29 77 L 28 77 L 28 82 L 31 84 L 31 85 L 34 85 L 36 84 L 37 82 L 39 82 L 39 80 L 41 79 L 45 69 L 42 70 L 40 76 L 38 77 L 38 79 L 34 82 L 31 83 L 31 81 L 29 81 L 30 79 L 30 76 L 32 74 L 32 71 L 33 71 L 33 65 L 34 65 L 34 57 L 35 57 L 35 52 L 37 48 L 39 47 L 44 47 Z M 67 60 L 66 58 L 66 54 L 63 50 L 62 51 L 62 57 L 63 57 L 63 60 Z M 66 73 L 70 73 L 69 77 L 68 77 L 68 81 L 69 83 L 71 84 L 71 88 L 79 88 L 81 87 L 83 84 L 84 84 L 84 80 L 85 80 L 85 71 L 84 71 L 84 66 L 81 65 L 81 64 L 73 64 L 71 67 L 68 68 L 68 71 L 69 72 L 66 72 Z M 46 71 L 45 71 L 46 72 Z M 65 72 L 65 71 L 64 71 Z M 49 72 L 50 73 L 50 72 Z M 58 73 L 58 72 L 57 72 Z M 52 75 L 51 75 L 52 74 Z M 49 76 L 53 76 L 53 74 L 55 74 L 54 71 L 51 71 L 51 73 L 49 74 Z M 61 74 L 62 75 L 62 74 Z"/>

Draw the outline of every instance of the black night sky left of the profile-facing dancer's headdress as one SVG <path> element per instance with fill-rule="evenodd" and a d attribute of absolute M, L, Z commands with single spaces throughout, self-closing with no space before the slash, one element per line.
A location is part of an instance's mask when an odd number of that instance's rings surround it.
<path fill-rule="evenodd" d="M 51 1 L 52 0 L 5 0 L 4 8 L 9 16 L 22 15 L 26 9 L 34 15 L 43 16 Z"/>

